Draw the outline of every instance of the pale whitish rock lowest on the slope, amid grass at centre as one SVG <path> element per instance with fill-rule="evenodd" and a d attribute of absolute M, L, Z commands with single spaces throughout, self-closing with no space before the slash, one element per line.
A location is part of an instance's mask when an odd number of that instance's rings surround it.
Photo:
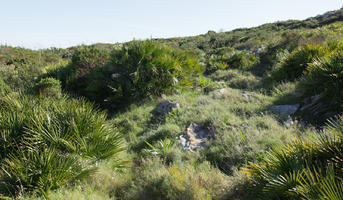
<path fill-rule="evenodd" d="M 214 136 L 214 131 L 208 130 L 199 124 L 191 124 L 180 136 L 179 142 L 186 151 L 195 151 L 206 147 L 206 140 Z"/>

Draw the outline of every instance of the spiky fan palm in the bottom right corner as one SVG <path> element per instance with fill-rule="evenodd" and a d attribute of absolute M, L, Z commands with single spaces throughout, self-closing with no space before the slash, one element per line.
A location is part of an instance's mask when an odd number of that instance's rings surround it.
<path fill-rule="evenodd" d="M 339 199 L 342 186 L 342 117 L 327 135 L 313 142 L 300 138 L 282 149 L 273 149 L 260 165 L 246 171 L 263 196 L 271 199 Z"/>

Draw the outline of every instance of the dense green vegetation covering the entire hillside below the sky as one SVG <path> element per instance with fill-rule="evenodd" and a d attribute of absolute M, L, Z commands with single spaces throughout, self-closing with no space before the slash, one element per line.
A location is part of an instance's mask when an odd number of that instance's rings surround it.
<path fill-rule="evenodd" d="M 343 199 L 342 21 L 1 46 L 0 199 Z"/>

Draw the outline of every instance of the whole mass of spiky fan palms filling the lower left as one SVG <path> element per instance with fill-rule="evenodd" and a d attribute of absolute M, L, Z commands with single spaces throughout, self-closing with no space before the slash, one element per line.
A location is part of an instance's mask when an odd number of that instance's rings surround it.
<path fill-rule="evenodd" d="M 6 96 L 0 108 L 0 190 L 58 188 L 122 151 L 104 112 L 83 100 Z"/>

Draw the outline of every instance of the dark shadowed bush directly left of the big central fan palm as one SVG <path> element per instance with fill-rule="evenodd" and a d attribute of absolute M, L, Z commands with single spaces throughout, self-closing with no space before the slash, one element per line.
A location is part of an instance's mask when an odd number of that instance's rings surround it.
<path fill-rule="evenodd" d="M 101 104 L 112 91 L 108 87 L 111 74 L 105 69 L 109 59 L 110 51 L 107 49 L 77 47 L 71 63 L 55 67 L 43 77 L 58 79 L 64 90 Z"/>

